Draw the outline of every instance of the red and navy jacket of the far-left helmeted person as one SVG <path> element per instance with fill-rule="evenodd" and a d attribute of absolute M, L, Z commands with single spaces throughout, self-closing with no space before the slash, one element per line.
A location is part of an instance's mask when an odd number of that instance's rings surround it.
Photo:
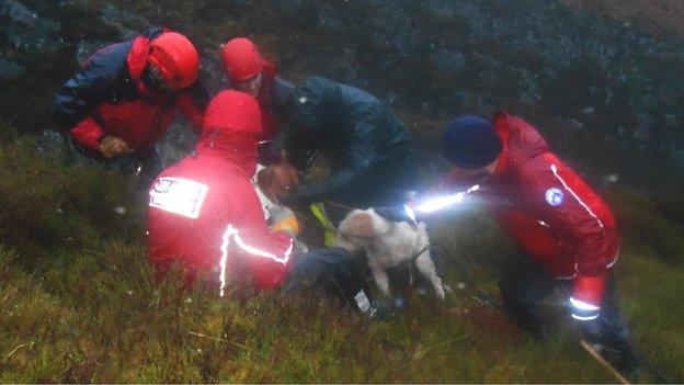
<path fill-rule="evenodd" d="M 80 145 L 96 151 L 105 135 L 115 135 L 134 150 L 148 150 L 179 110 L 197 131 L 202 127 L 198 98 L 189 91 L 157 95 L 140 80 L 149 42 L 164 32 L 152 31 L 101 49 L 59 91 L 53 110 Z"/>

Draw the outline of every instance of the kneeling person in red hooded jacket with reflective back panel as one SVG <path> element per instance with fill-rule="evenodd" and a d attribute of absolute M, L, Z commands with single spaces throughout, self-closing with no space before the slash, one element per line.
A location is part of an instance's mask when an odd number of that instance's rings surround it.
<path fill-rule="evenodd" d="M 251 184 L 261 135 L 254 98 L 223 91 L 212 100 L 193 155 L 152 183 L 150 260 L 160 272 L 180 262 L 187 283 L 206 276 L 221 295 L 227 285 L 251 281 L 260 290 L 338 296 L 350 306 L 367 299 L 360 294 L 365 293 L 362 270 L 349 251 L 329 248 L 295 258 L 289 222 L 277 226 L 282 233 L 269 229 Z"/>

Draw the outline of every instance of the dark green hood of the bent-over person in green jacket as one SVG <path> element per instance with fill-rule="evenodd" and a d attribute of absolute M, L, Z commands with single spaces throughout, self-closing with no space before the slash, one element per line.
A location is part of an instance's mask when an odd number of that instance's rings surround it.
<path fill-rule="evenodd" d="M 338 83 L 310 77 L 295 90 L 294 123 L 305 133 L 320 133 L 339 120 L 341 103 L 342 90 Z"/>

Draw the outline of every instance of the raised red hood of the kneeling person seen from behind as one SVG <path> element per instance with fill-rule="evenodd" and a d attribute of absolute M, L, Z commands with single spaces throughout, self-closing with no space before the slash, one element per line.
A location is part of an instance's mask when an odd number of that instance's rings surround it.
<path fill-rule="evenodd" d="M 251 175 L 256 168 L 262 132 L 256 100 L 243 92 L 223 91 L 207 106 L 195 149 L 198 154 L 220 156 Z"/>

